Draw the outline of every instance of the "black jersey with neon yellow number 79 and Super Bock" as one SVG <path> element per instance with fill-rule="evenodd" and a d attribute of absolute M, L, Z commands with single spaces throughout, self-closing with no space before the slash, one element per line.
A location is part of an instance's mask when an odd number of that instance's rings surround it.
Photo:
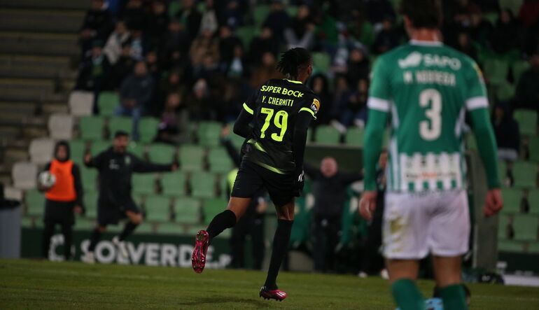
<path fill-rule="evenodd" d="M 295 80 L 272 79 L 264 83 L 244 103 L 253 115 L 253 139 L 245 160 L 278 174 L 295 171 L 292 151 L 295 120 L 299 113 L 316 119 L 320 101 L 309 87 Z"/>

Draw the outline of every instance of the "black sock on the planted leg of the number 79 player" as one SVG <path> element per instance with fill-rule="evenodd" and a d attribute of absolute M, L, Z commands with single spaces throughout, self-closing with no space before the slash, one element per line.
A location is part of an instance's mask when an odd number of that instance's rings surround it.
<path fill-rule="evenodd" d="M 288 251 L 288 242 L 290 241 L 290 232 L 292 232 L 293 220 L 278 220 L 275 236 L 273 237 L 272 260 L 269 261 L 267 278 L 264 286 L 269 290 L 277 289 L 277 274 L 281 268 L 281 262 Z"/>

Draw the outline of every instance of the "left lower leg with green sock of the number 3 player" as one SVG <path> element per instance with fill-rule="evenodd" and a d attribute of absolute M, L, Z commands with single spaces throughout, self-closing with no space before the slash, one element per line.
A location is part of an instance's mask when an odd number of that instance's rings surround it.
<path fill-rule="evenodd" d="M 423 310 L 423 296 L 415 284 L 419 272 L 417 260 L 386 260 L 391 293 L 402 310 Z"/>

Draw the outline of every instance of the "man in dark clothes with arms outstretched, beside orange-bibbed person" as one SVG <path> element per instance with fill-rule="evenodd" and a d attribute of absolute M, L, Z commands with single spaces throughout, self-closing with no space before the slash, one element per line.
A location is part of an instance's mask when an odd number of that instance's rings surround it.
<path fill-rule="evenodd" d="M 175 171 L 176 164 L 152 164 L 144 162 L 126 152 L 129 135 L 116 132 L 113 146 L 96 157 L 87 154 L 84 158 L 86 167 L 99 170 L 99 198 L 97 200 L 97 227 L 92 232 L 90 246 L 83 261 L 94 263 L 94 248 L 107 225 L 117 225 L 122 218 L 128 218 L 120 235 L 113 238 L 120 255 L 127 258 L 127 248 L 123 242 L 142 223 L 142 215 L 131 197 L 131 176 L 133 172 Z"/>

